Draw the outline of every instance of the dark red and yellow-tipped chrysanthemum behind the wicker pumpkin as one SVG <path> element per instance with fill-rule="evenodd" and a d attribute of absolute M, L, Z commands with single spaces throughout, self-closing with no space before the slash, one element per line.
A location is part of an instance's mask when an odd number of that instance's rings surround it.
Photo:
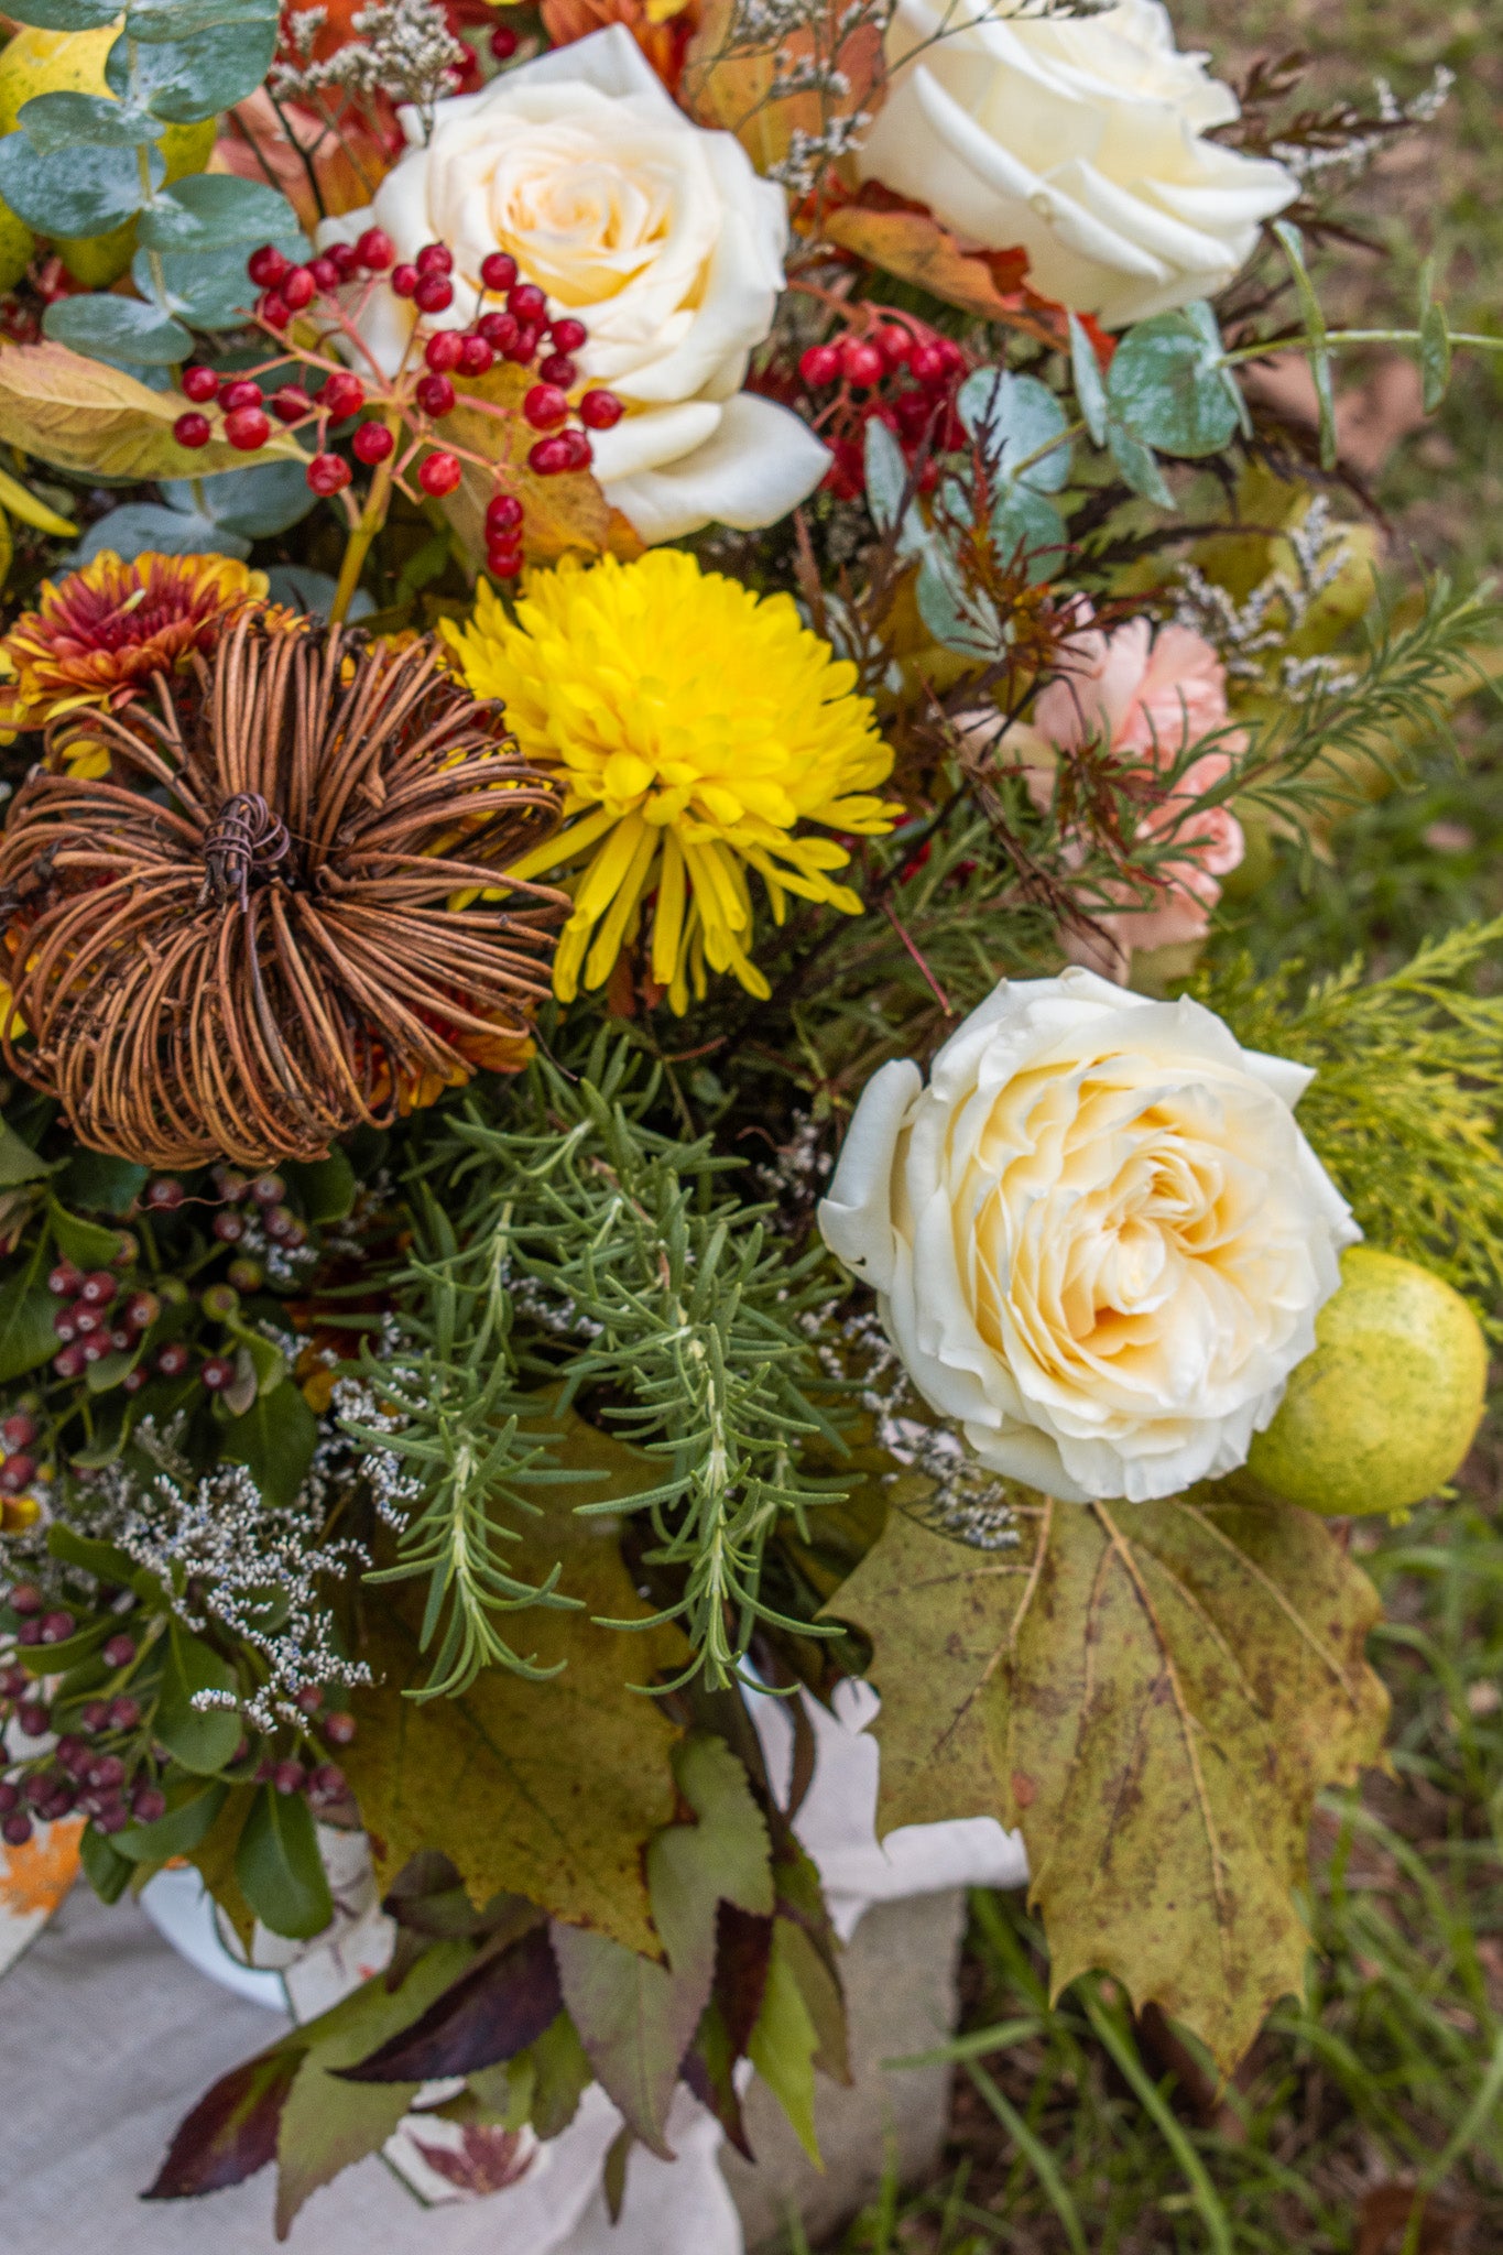
<path fill-rule="evenodd" d="M 117 710 L 153 674 L 207 649 L 232 611 L 266 598 L 266 573 L 232 557 L 104 550 L 0 638 L 0 731 L 45 728 L 79 708 Z"/>

